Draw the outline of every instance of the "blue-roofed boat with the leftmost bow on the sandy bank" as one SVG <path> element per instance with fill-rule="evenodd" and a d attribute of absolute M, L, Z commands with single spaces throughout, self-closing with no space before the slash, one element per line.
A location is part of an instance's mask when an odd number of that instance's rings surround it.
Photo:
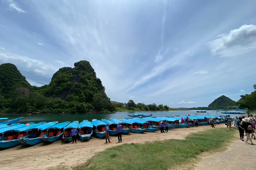
<path fill-rule="evenodd" d="M 17 146 L 20 144 L 19 139 L 20 138 L 26 138 L 27 135 L 30 134 L 30 129 L 36 128 L 39 125 L 44 124 L 45 122 L 41 123 L 27 123 L 25 126 L 12 129 L 9 134 L 9 139 L 3 139 L 0 141 L 0 148 L 10 148 L 13 146 Z"/>

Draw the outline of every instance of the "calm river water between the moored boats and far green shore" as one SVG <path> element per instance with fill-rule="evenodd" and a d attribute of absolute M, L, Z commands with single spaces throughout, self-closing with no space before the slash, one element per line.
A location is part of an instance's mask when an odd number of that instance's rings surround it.
<path fill-rule="evenodd" d="M 19 123 L 28 123 L 28 122 L 52 122 L 52 121 L 59 121 L 66 122 L 66 121 L 79 121 L 82 122 L 83 120 L 92 121 L 92 119 L 101 120 L 102 118 L 124 118 L 129 117 L 127 114 L 132 115 L 133 113 L 146 113 L 146 114 L 153 114 L 153 116 L 185 116 L 190 114 L 190 116 L 194 116 L 196 111 L 157 111 L 157 112 L 116 112 L 116 113 L 94 113 L 94 114 L 40 114 L 40 115 L 22 115 L 22 114 L 1 114 L 0 117 L 7 117 L 9 120 L 18 117 L 24 117 Z M 216 111 L 207 111 L 206 113 L 199 113 L 200 115 L 216 115 L 216 113 L 221 114 L 220 112 Z M 225 115 L 225 114 L 221 114 Z M 235 114 L 232 114 L 231 117 L 235 117 Z M 239 117 L 239 115 L 237 115 Z"/>

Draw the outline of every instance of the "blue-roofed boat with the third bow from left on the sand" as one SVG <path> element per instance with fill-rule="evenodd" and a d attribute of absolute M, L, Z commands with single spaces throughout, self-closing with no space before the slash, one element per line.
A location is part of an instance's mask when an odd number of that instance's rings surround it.
<path fill-rule="evenodd" d="M 42 140 L 44 142 L 54 142 L 59 139 L 61 139 L 63 133 L 64 133 L 64 128 L 69 124 L 70 122 L 62 122 L 55 124 L 51 126 L 50 128 L 47 129 L 46 135 L 42 137 Z"/>

